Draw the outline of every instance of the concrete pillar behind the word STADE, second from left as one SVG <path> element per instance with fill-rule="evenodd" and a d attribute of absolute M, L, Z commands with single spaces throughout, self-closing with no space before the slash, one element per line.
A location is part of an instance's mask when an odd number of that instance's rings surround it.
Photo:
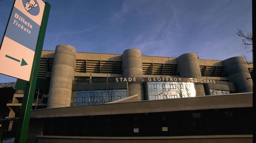
<path fill-rule="evenodd" d="M 127 49 L 122 54 L 123 77 L 143 77 L 141 50 Z M 144 100 L 143 82 L 129 82 L 128 96 L 139 95 Z"/>

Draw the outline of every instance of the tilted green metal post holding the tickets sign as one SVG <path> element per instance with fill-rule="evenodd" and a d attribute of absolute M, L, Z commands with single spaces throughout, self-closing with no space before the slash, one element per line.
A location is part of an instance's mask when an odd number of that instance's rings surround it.
<path fill-rule="evenodd" d="M 41 27 L 38 35 L 38 40 L 36 45 L 37 47 L 36 47 L 35 57 L 34 57 L 33 66 L 31 70 L 30 81 L 26 82 L 26 88 L 25 88 L 24 97 L 22 101 L 22 107 L 19 115 L 18 128 L 17 128 L 15 141 L 14 141 L 15 143 L 25 143 L 27 139 L 30 114 L 31 114 L 32 104 L 33 104 L 33 99 L 35 94 L 37 74 L 38 74 L 44 39 L 45 39 L 45 32 L 46 32 L 49 13 L 50 13 L 50 7 L 51 5 L 46 2 L 44 14 L 42 17 Z"/>

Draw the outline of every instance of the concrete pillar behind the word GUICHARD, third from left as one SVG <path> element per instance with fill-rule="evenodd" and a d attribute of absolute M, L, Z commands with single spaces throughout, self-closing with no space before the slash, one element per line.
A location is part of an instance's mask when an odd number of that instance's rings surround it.
<path fill-rule="evenodd" d="M 180 77 L 201 79 L 201 71 L 196 53 L 186 53 L 180 55 L 177 60 L 177 69 Z M 196 96 L 205 96 L 204 85 L 195 83 Z"/>

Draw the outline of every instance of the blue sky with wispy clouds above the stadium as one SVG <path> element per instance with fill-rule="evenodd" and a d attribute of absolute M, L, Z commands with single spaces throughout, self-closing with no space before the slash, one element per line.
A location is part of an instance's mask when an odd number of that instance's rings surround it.
<path fill-rule="evenodd" d="M 145 56 L 224 60 L 246 55 L 237 29 L 251 31 L 250 0 L 44 0 L 51 11 L 44 50 L 58 44 L 79 52 L 122 54 L 136 48 Z M 13 4 L 0 3 L 2 36 Z M 1 37 L 2 40 L 2 37 Z M 0 61 L 1 64 L 1 61 Z M 16 79 L 0 74 L 0 83 Z"/>

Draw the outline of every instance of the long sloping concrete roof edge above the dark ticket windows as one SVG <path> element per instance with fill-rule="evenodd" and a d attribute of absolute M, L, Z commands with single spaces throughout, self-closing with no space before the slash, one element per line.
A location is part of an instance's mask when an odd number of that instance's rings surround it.
<path fill-rule="evenodd" d="M 252 93 L 146 100 L 33 110 L 31 118 L 95 116 L 252 107 Z"/>

